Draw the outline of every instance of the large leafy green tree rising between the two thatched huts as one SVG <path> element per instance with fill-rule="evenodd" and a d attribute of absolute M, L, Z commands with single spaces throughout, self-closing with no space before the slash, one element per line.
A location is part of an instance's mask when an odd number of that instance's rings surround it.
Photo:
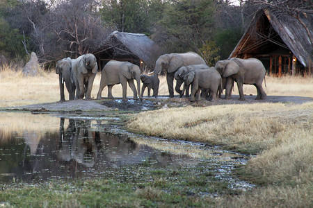
<path fill-rule="evenodd" d="M 159 21 L 159 33 L 166 37 L 170 51 L 200 52 L 214 33 L 214 0 L 172 1 L 168 3 Z"/>

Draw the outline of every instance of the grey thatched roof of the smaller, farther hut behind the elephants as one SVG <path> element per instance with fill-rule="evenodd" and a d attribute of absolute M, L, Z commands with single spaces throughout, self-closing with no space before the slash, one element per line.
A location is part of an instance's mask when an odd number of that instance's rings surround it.
<path fill-rule="evenodd" d="M 145 34 L 114 31 L 97 51 L 96 54 L 106 51 L 113 56 L 135 55 L 144 62 L 155 62 L 160 49 Z"/>

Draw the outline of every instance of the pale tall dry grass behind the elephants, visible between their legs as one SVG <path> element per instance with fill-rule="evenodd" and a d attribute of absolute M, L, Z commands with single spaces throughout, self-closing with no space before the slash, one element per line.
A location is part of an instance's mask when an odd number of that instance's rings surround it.
<path fill-rule="evenodd" d="M 97 97 L 99 89 L 101 73 L 97 73 L 92 98 Z M 268 95 L 280 96 L 309 96 L 313 97 L 313 79 L 300 77 L 284 77 L 272 78 L 266 77 L 266 85 L 264 90 Z M 238 94 L 236 85 L 234 85 L 233 94 Z M 244 85 L 245 94 L 257 94 L 254 86 Z M 176 95 L 178 95 L 175 92 Z M 145 90 L 147 96 L 147 89 Z M 166 77 L 160 77 L 159 95 L 168 95 L 168 86 Z M 113 96 L 122 97 L 122 86 L 115 85 L 113 87 Z M 127 96 L 132 98 L 133 93 L 127 87 Z M 107 97 L 107 87 L 102 91 L 102 97 Z M 68 94 L 65 89 L 65 99 Z M 31 105 L 38 103 L 52 103 L 60 100 L 60 92 L 58 87 L 58 75 L 54 72 L 39 70 L 36 77 L 24 77 L 22 75 L 22 67 L 18 64 L 9 64 L 4 66 L 0 71 L 0 107 Z"/>

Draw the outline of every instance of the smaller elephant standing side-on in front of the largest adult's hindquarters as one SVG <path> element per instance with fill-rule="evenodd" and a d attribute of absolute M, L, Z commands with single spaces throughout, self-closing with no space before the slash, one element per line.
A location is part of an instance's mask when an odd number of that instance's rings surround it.
<path fill-rule="evenodd" d="M 186 85 L 191 85 L 191 102 L 195 101 L 195 93 L 198 93 L 197 101 L 200 100 L 200 90 L 209 89 L 212 100 L 216 101 L 218 89 L 222 88 L 222 77 L 215 69 L 203 69 L 190 71 L 184 78 Z"/>

